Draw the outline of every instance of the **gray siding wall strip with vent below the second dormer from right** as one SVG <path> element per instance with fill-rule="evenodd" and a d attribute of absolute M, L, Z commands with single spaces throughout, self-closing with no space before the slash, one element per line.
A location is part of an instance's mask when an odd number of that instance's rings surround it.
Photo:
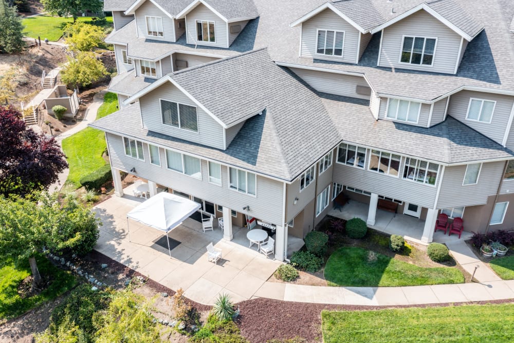
<path fill-rule="evenodd" d="M 325 71 L 290 68 L 318 92 L 369 100 L 369 95 L 357 94 L 356 87 L 369 87 L 363 77 L 326 73 Z"/>

